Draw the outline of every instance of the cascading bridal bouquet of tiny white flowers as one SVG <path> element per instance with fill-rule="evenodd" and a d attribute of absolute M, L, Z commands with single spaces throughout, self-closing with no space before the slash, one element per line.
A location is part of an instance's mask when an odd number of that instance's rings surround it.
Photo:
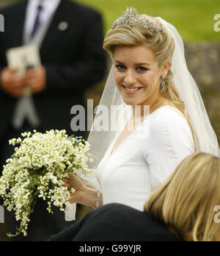
<path fill-rule="evenodd" d="M 74 170 L 89 174 L 86 165 L 89 158 L 89 143 L 81 137 L 68 137 L 66 131 L 24 132 L 23 139 L 12 139 L 15 153 L 7 160 L 0 178 L 0 196 L 4 199 L 7 210 L 15 211 L 16 221 L 21 221 L 15 235 L 23 232 L 27 235 L 30 215 L 38 198 L 48 201 L 48 212 L 52 213 L 51 204 L 65 211 L 64 205 L 70 205 L 70 192 L 63 186 L 63 177 Z M 50 188 L 50 182 L 54 184 Z M 9 237 L 15 236 L 7 234 Z"/>

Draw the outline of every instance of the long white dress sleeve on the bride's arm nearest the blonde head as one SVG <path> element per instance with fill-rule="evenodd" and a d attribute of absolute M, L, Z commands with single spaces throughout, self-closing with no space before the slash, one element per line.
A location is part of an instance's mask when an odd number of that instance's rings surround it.
<path fill-rule="evenodd" d="M 164 107 L 150 118 L 150 135 L 142 150 L 150 166 L 153 190 L 194 152 L 194 141 L 186 118 L 178 110 Z"/>

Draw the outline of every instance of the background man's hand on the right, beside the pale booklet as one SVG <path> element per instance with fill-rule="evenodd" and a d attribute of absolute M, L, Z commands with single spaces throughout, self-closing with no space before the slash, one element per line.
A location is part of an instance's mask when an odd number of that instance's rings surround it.
<path fill-rule="evenodd" d="M 32 93 L 40 93 L 45 90 L 46 72 L 45 68 L 30 68 L 25 75 L 26 86 L 32 90 Z"/>

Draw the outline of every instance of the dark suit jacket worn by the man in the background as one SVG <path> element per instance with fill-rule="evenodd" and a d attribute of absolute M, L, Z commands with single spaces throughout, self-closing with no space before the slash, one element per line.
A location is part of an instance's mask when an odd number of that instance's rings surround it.
<path fill-rule="evenodd" d="M 0 10 L 4 30 L 0 33 L 0 71 L 7 66 L 7 49 L 21 46 L 26 6 L 21 1 Z M 66 21 L 65 31 L 58 29 Z M 46 90 L 34 94 L 34 103 L 45 129 L 70 131 L 70 108 L 84 104 L 83 93 L 106 72 L 102 49 L 103 26 L 100 15 L 88 7 L 62 0 L 43 40 L 40 57 L 46 68 Z M 0 88 L 0 136 L 6 129 L 18 99 Z M 74 132 L 71 132 L 72 134 Z"/>

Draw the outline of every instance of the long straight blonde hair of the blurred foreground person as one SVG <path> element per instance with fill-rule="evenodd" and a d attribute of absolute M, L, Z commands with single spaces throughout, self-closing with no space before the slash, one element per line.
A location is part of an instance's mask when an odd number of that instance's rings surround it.
<path fill-rule="evenodd" d="M 156 189 L 144 211 L 183 241 L 220 241 L 214 208 L 220 205 L 220 158 L 197 152 L 186 157 Z"/>

